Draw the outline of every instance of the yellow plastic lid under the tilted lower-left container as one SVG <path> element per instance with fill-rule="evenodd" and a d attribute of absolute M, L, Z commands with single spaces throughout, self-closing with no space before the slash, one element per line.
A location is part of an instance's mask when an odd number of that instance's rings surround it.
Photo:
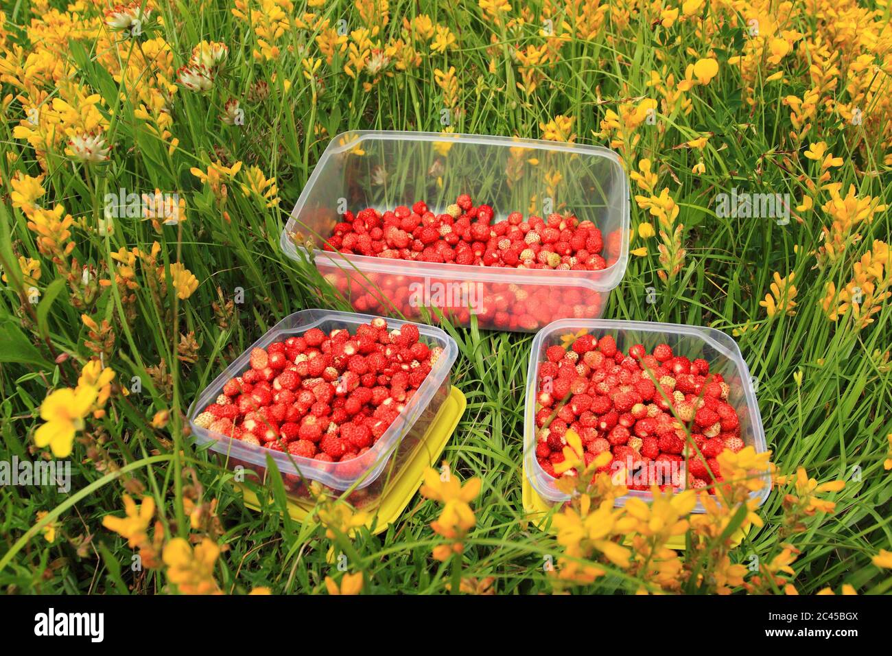
<path fill-rule="evenodd" d="M 392 477 L 387 483 L 377 502 L 363 508 L 369 516 L 366 525 L 373 533 L 381 533 L 397 519 L 400 519 L 402 511 L 406 509 L 412 496 L 421 487 L 425 469 L 436 466 L 443 448 L 455 432 L 458 420 L 461 419 L 466 407 L 465 394 L 462 394 L 458 387 L 452 386 L 449 396 L 437 411 L 436 418 L 427 428 L 415 453 L 412 454 L 409 461 L 402 465 L 399 475 Z M 260 510 L 257 495 L 247 486 L 239 486 L 244 494 L 244 504 L 254 511 Z M 307 519 L 312 510 L 313 503 L 310 501 L 288 500 L 288 514 L 296 521 L 302 522 Z M 374 528 L 372 528 L 373 526 Z"/>

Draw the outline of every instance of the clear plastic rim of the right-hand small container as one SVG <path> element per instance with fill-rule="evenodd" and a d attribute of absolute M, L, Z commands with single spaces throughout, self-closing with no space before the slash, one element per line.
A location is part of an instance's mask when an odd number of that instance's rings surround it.
<path fill-rule="evenodd" d="M 527 478 L 530 484 L 543 498 L 550 502 L 566 502 L 570 500 L 569 495 L 554 492 L 549 489 L 542 489 L 537 484 L 538 479 L 557 480 L 556 477 L 550 476 L 541 468 L 539 461 L 533 457 L 533 449 L 529 448 L 531 440 L 535 438 L 535 397 L 536 386 L 539 372 L 539 352 L 542 343 L 559 330 L 588 328 L 589 330 L 638 330 L 641 332 L 651 333 L 670 333 L 676 335 L 695 336 L 702 339 L 706 344 L 712 346 L 716 351 L 722 353 L 729 361 L 733 362 L 737 367 L 741 380 L 747 381 L 743 386 L 744 398 L 747 401 L 747 408 L 753 418 L 753 441 L 757 453 L 764 453 L 768 450 L 765 443 L 764 427 L 762 424 L 762 414 L 759 411 L 759 404 L 756 401 L 756 394 L 753 391 L 752 378 L 750 377 L 747 362 L 740 353 L 737 342 L 731 336 L 717 328 L 708 328 L 706 326 L 688 326 L 678 323 L 659 323 L 657 321 L 632 321 L 632 320 L 612 320 L 612 319 L 562 319 L 552 321 L 541 330 L 533 338 L 533 345 L 530 348 L 530 363 L 527 368 L 527 386 L 526 400 L 524 408 L 524 463 L 527 471 Z M 723 342 L 723 343 L 722 343 Z M 765 485 L 750 495 L 750 498 L 757 498 L 761 506 L 768 495 L 771 493 L 771 485 L 766 476 Z M 637 497 L 640 499 L 649 499 L 650 493 L 640 490 L 630 490 L 628 494 L 616 500 L 616 505 L 625 505 L 627 499 Z M 703 504 L 699 501 L 694 508 L 695 512 L 704 512 Z"/>

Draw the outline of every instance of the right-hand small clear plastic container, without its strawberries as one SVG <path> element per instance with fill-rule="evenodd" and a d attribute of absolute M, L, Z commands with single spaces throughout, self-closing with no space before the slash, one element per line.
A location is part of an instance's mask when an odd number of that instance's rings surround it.
<path fill-rule="evenodd" d="M 740 354 L 737 343 L 721 330 L 699 326 L 681 326 L 655 321 L 621 321 L 621 320 L 560 320 L 542 328 L 533 339 L 530 350 L 530 365 L 526 377 L 526 407 L 524 413 L 524 469 L 533 489 L 546 502 L 566 502 L 569 497 L 555 486 L 558 480 L 546 473 L 535 457 L 536 448 L 536 394 L 539 385 L 539 365 L 546 360 L 545 352 L 549 346 L 560 345 L 560 337 L 579 330 L 587 330 L 591 336 L 600 339 L 606 335 L 614 336 L 616 347 L 626 353 L 629 346 L 644 345 L 650 353 L 654 346 L 665 343 L 670 345 L 673 353 L 683 355 L 690 360 L 703 358 L 709 362 L 710 373 L 720 373 L 731 386 L 728 403 L 737 411 L 740 420 L 740 437 L 744 444 L 752 445 L 757 453 L 764 453 L 765 434 L 762 428 L 762 415 L 756 403 L 756 391 L 753 379 L 749 374 L 746 361 Z M 765 477 L 764 487 L 753 493 L 761 505 L 771 491 L 770 481 Z M 649 499 L 649 492 L 630 490 L 629 494 L 617 500 L 622 505 L 629 496 Z M 700 502 L 695 508 L 703 512 Z"/>

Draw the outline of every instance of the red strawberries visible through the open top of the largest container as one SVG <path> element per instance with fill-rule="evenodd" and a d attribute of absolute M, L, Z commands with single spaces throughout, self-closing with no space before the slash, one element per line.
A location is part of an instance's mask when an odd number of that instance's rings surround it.
<path fill-rule="evenodd" d="M 520 212 L 492 222 L 491 206 L 459 195 L 442 214 L 418 201 L 378 212 L 344 212 L 325 248 L 398 260 L 474 264 L 518 269 L 598 271 L 604 239 L 589 220 L 550 214 L 547 219 Z"/>

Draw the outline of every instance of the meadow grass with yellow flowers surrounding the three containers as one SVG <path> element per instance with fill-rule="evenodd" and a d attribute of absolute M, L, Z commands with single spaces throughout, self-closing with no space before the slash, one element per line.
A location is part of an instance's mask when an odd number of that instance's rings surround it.
<path fill-rule="evenodd" d="M 103 364 L 116 374 L 104 416 L 88 418 L 78 432 L 69 494 L 49 486 L 0 488 L 4 591 L 167 590 L 164 569 L 132 571 L 127 541 L 102 525 L 103 517 L 121 514 L 125 491 L 153 497 L 164 535 L 212 536 L 224 546 L 214 573 L 227 593 L 258 586 L 277 593 L 325 591 L 324 578 L 337 577 L 333 555 L 340 552 L 348 554 L 351 571 L 364 572 L 365 592 L 434 594 L 447 585 L 455 591 L 458 577 L 493 577 L 491 589 L 500 594 L 553 589 L 543 562 L 549 556 L 557 560 L 561 547 L 524 518 L 521 502 L 531 335 L 444 327 L 458 343 L 453 381 L 467 396 L 467 411 L 442 458 L 458 477 L 483 481 L 460 570 L 455 559 L 431 558 L 441 543 L 429 527 L 438 504 L 416 495 L 384 533 L 359 530 L 351 540 L 333 541 L 318 523 L 288 519 L 281 494 L 261 512 L 247 510 L 231 473 L 196 449 L 186 431 L 189 404 L 245 347 L 293 311 L 332 305 L 334 296 L 312 265 L 289 260 L 278 245 L 287 212 L 329 139 L 354 129 L 439 131 L 441 110 L 449 109 L 454 132 L 612 145 L 627 170 L 640 171 L 642 160 L 652 163 L 658 184 L 648 190 L 632 181 L 632 195 L 658 196 L 665 187 L 679 212 L 661 216 L 632 200 L 632 248 L 647 252 L 632 256 L 605 318 L 733 333 L 758 379 L 757 399 L 777 469 L 789 474 L 801 466 L 818 481 L 846 481 L 843 490 L 830 494 L 836 511 L 806 517 L 795 532 L 785 523 L 783 494 L 772 493 L 758 511 L 764 527 L 749 533 L 733 560 L 748 563 L 756 555 L 769 562 L 789 543 L 801 552 L 789 577 L 801 593 L 828 586 L 838 592 L 842 584 L 864 593 L 888 592 L 892 578 L 871 562 L 892 544 L 892 477 L 884 468 L 892 433 L 892 311 L 886 301 L 892 262 L 888 247 L 883 252 L 875 244 L 889 241 L 888 213 L 877 210 L 871 220 L 862 215 L 846 223 L 823 207 L 831 201 L 825 187 L 831 182 L 841 185 L 843 199 L 850 185 L 856 200 L 872 199 L 874 207 L 890 198 L 888 5 L 863 3 L 859 9 L 851 1 L 833 3 L 839 13 L 830 20 L 805 6 L 779 13 L 770 3 L 735 9 L 711 2 L 667 21 L 657 4 L 631 1 L 609 7 L 532 2 L 508 11 L 428 0 L 389 6 L 305 7 L 287 0 L 152 4 L 151 16 L 132 35 L 103 27 L 102 2 L 70 5 L 68 12 L 54 0 L 22 2 L 0 14 L 3 459 L 48 457 L 34 443 L 40 405 L 50 389 L 74 386 L 91 357 L 102 353 Z M 824 4 L 829 3 L 815 6 Z M 869 7 L 877 12 L 868 13 Z M 420 14 L 448 29 L 452 40 L 443 37 L 444 52 L 432 48 L 440 38 L 436 30 L 413 21 Z M 747 31 L 752 16 L 763 26 L 756 35 Z M 412 21 L 409 28 L 404 18 Z M 339 34 L 339 21 L 345 21 L 345 34 Z M 886 24 L 875 52 L 866 38 L 830 50 L 820 41 L 846 33 L 853 23 L 862 34 Z M 368 37 L 356 29 L 369 29 Z M 803 36 L 784 37 L 782 29 Z M 772 38 L 791 42 L 779 62 L 768 60 Z M 211 89 L 194 93 L 178 84 L 174 70 L 188 62 L 202 39 L 226 44 L 228 53 Z M 756 46 L 761 49 L 754 52 Z M 834 63 L 837 48 L 841 54 Z M 368 62 L 376 50 L 387 62 L 373 74 Z M 34 55 L 32 61 L 27 54 Z M 878 63 L 873 73 L 855 71 L 863 54 Z M 718 74 L 706 84 L 693 84 L 681 98 L 659 91 L 674 91 L 689 65 L 707 57 L 718 63 Z M 308 58 L 318 58 L 318 68 Z M 656 85 L 651 71 L 659 72 Z M 769 80 L 776 72 L 783 78 Z M 830 85 L 830 79 L 838 84 Z M 785 99 L 804 98 L 815 87 L 817 111 L 805 117 L 810 127 L 803 131 L 794 124 L 797 104 Z M 99 100 L 90 100 L 91 94 Z M 220 120 L 230 98 L 239 100 L 244 125 Z M 653 124 L 642 104 L 648 98 L 657 101 Z M 863 122 L 846 118 L 855 105 Z M 35 108 L 37 119 L 31 120 L 29 110 Z M 616 112 L 620 128 L 602 124 L 609 122 L 607 112 Z M 95 124 L 87 125 L 94 115 Z M 66 142 L 87 128 L 113 145 L 105 161 L 82 162 L 77 153 L 66 154 Z M 708 139 L 702 147 L 687 145 L 703 136 Z M 806 158 L 805 150 L 817 142 L 842 162 L 823 167 Z M 207 172 L 211 162 L 243 164 L 232 175 L 222 170 L 219 183 L 191 172 Z M 702 170 L 692 171 L 698 162 Z M 259 181 L 250 177 L 252 167 L 260 170 Z M 51 209 L 61 203 L 63 215 L 73 217 L 70 237 L 61 240 L 73 250 L 41 247 L 37 230 L 29 227 L 34 207 L 14 194 L 13 181 L 26 175 L 43 176 L 45 193 L 33 205 Z M 264 196 L 270 179 L 277 188 Z M 718 215 L 715 196 L 733 187 L 789 194 L 789 223 Z M 120 188 L 177 192 L 186 201 L 186 220 L 158 229 L 151 221 L 125 217 L 109 229 L 103 199 Z M 795 209 L 806 197 L 813 206 Z M 846 212 L 848 218 L 855 214 Z M 644 223 L 654 224 L 657 235 L 640 237 Z M 827 253 L 836 237 L 839 248 Z M 156 242 L 159 250 L 151 258 Z M 662 254 L 657 245 L 663 245 Z M 112 254 L 134 248 L 146 257 L 136 257 L 136 286 L 130 289 L 120 282 L 126 274 Z M 856 278 L 855 263 L 869 252 L 874 270 L 880 262 L 879 274 Z M 20 257 L 37 262 L 39 278 L 19 266 Z M 183 263 L 196 278 L 184 298 L 171 291 L 171 262 Z M 772 291 L 775 271 L 788 286 Z M 831 320 L 822 305 L 829 283 L 835 290 L 849 285 L 849 292 L 860 286 L 868 301 L 853 307 L 831 294 L 826 306 L 843 306 Z M 32 287 L 39 292 L 34 298 Z M 656 303 L 648 303 L 651 288 Z M 240 290 L 244 302 L 235 303 Z M 760 305 L 766 294 L 772 295 L 769 307 Z M 795 306 L 789 305 L 794 299 Z M 770 312 L 775 304 L 779 311 Z M 871 307 L 872 322 L 864 324 Z M 134 377 L 141 391 L 124 394 Z M 164 411 L 169 419 L 158 418 Z M 198 506 L 213 501 L 212 512 L 206 506 L 192 528 L 185 498 Z M 611 569 L 579 589 L 633 592 L 639 585 Z"/>

